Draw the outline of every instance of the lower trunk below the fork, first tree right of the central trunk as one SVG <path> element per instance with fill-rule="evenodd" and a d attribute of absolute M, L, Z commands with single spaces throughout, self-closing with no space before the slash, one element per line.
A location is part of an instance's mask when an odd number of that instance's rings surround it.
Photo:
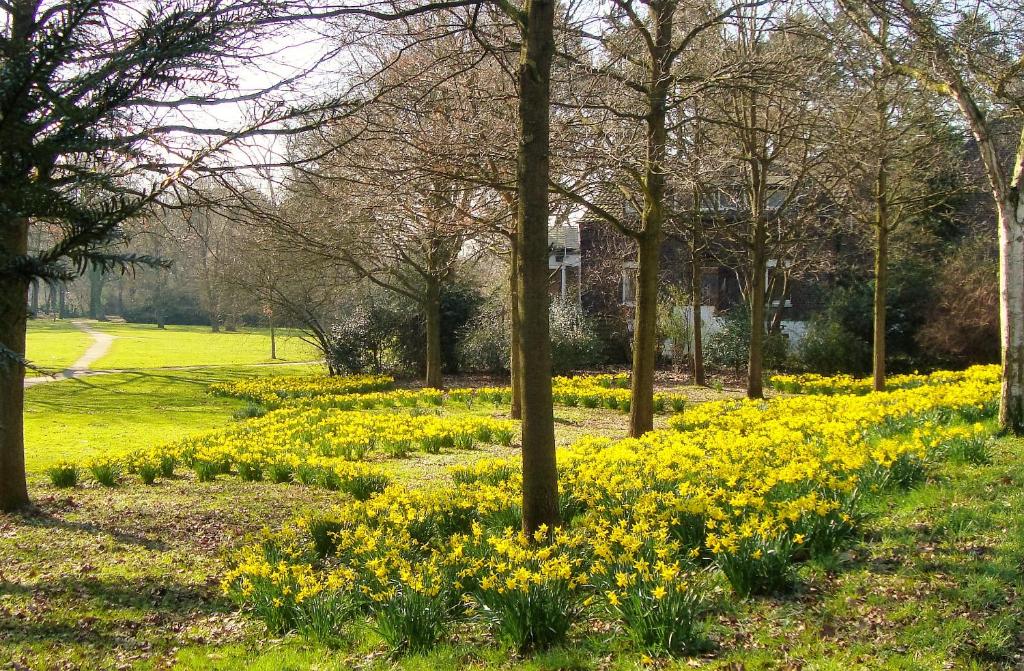
<path fill-rule="evenodd" d="M 630 435 L 633 437 L 639 437 L 654 428 L 660 230 L 648 230 L 638 241 L 638 248 L 636 316 L 633 329 L 633 386 L 630 402 Z"/>

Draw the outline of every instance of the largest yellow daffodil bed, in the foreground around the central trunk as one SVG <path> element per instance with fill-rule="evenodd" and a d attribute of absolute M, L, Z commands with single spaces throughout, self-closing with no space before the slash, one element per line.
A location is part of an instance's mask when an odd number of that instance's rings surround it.
<path fill-rule="evenodd" d="M 486 459 L 447 487 L 391 486 L 300 518 L 244 549 L 223 586 L 281 631 L 316 630 L 310 613 L 343 603 L 313 617 L 319 629 L 368 620 L 395 649 L 456 622 L 519 649 L 603 622 L 686 654 L 717 585 L 790 589 L 800 561 L 857 533 L 864 497 L 912 486 L 934 460 L 984 460 L 997 392 L 975 368 L 884 393 L 706 404 L 671 429 L 560 450 L 559 529 L 524 537 L 518 464 Z"/>

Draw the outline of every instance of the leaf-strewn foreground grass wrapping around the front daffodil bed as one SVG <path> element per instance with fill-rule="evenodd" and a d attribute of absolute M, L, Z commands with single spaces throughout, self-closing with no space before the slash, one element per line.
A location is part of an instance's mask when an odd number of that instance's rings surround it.
<path fill-rule="evenodd" d="M 705 655 L 665 669 L 1009 669 L 1024 662 L 1024 443 L 992 463 L 946 466 L 871 502 L 859 540 L 800 570 L 786 597 L 735 602 Z M 615 670 L 642 659 L 592 635 L 520 659 L 461 638 L 426 656 L 382 655 L 376 634 L 335 649 L 267 639 L 215 577 L 225 549 L 337 495 L 316 488 L 191 478 L 53 490 L 36 513 L 0 517 L 0 664 L 31 669 Z M 467 635 L 469 632 L 467 632 Z M 15 668 L 17 668 L 15 666 Z"/>

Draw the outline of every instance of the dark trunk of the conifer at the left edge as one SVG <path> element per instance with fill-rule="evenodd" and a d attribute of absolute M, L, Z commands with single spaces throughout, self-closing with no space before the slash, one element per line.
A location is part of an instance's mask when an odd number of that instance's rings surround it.
<path fill-rule="evenodd" d="M 29 248 L 29 224 L 11 221 L 0 236 L 3 265 L 24 256 Z M 25 358 L 29 283 L 19 276 L 0 276 L 0 345 Z M 25 478 L 25 366 L 0 357 L 0 511 L 29 504 Z"/>

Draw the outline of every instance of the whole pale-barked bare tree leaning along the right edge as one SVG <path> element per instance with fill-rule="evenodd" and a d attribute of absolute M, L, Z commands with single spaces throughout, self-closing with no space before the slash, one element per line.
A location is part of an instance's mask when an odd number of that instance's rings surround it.
<path fill-rule="evenodd" d="M 839 4 L 891 67 L 950 100 L 974 136 L 998 222 L 999 425 L 1024 433 L 1024 5 L 1016 0 L 981 0 L 969 9 L 945 1 Z M 888 32 L 911 40 L 911 49 L 894 49 Z M 1018 137 L 1009 152 L 998 141 L 999 127 L 1008 124 L 1016 126 Z"/>

